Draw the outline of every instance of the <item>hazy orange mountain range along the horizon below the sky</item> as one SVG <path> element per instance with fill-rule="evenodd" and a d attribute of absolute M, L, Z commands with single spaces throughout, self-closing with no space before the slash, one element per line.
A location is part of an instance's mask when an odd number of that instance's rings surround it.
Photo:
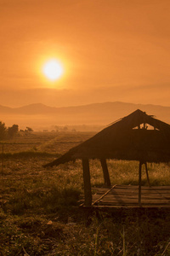
<path fill-rule="evenodd" d="M 52 108 L 41 103 L 20 108 L 8 108 L 0 105 L 0 120 L 7 126 L 17 124 L 20 129 L 31 126 L 34 130 L 50 129 L 53 125 L 105 126 L 136 109 L 170 123 L 170 107 L 125 102 L 104 102 L 63 108 Z"/>

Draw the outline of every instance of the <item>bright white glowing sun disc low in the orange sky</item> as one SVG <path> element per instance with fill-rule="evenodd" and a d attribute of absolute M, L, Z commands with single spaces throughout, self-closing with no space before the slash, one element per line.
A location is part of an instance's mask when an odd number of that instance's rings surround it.
<path fill-rule="evenodd" d="M 42 72 L 51 81 L 59 79 L 64 73 L 62 64 L 55 60 L 51 59 L 45 62 L 42 67 Z"/>

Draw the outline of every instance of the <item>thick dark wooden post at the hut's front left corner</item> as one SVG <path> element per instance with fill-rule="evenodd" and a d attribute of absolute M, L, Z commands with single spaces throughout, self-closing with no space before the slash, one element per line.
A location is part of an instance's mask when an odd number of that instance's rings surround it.
<path fill-rule="evenodd" d="M 88 159 L 82 159 L 82 171 L 84 180 L 84 205 L 91 207 L 92 205 L 92 191 L 90 183 L 90 170 Z"/>

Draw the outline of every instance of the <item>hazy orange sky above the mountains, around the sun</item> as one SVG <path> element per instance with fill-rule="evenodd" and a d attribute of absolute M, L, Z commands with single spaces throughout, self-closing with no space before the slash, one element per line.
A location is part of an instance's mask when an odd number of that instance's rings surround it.
<path fill-rule="evenodd" d="M 169 0 L 0 0 L 0 105 L 170 106 L 169 14 Z"/>

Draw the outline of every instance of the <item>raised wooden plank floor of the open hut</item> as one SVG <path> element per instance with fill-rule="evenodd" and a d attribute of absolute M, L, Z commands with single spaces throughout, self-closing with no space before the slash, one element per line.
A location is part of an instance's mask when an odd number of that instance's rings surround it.
<path fill-rule="evenodd" d="M 107 190 L 93 188 L 93 202 L 104 195 Z M 116 185 L 93 207 L 139 207 L 138 198 L 138 186 Z M 170 186 L 142 187 L 141 207 L 170 207 Z"/>

